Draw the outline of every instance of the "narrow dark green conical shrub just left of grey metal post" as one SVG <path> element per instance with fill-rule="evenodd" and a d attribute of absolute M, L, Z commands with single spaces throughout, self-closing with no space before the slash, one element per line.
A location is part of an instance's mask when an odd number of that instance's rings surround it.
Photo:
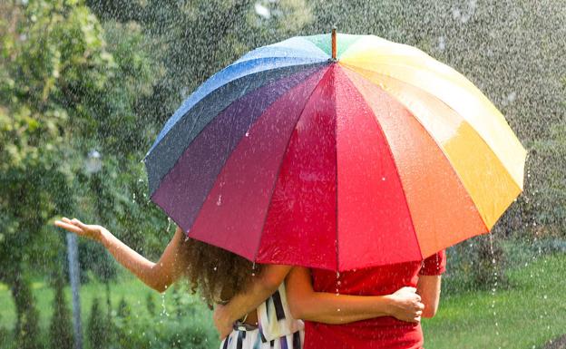
<path fill-rule="evenodd" d="M 51 317 L 49 336 L 52 349 L 73 349 L 73 322 L 71 311 L 63 293 L 63 275 L 55 278 L 54 314 Z"/>

